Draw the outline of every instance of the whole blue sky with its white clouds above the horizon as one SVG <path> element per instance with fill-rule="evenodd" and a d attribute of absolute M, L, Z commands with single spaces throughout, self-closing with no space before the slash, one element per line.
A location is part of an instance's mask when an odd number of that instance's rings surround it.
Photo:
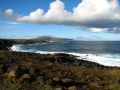
<path fill-rule="evenodd" d="M 0 0 L 0 38 L 120 41 L 119 0 Z"/>

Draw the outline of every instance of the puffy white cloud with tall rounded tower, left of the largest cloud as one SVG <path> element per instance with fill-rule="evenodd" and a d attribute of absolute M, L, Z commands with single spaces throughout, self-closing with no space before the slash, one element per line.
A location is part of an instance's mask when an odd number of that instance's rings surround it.
<path fill-rule="evenodd" d="M 50 4 L 48 12 L 44 13 L 44 10 L 37 9 L 31 12 L 28 16 L 18 18 L 18 21 L 22 22 L 36 22 L 46 24 L 63 24 L 69 20 L 71 13 L 64 9 L 64 3 L 60 0 L 56 0 Z"/>

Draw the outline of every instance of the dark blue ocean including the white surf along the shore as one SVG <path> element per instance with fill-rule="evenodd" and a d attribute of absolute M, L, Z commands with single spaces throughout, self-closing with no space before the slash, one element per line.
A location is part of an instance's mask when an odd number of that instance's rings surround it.
<path fill-rule="evenodd" d="M 41 54 L 67 53 L 105 66 L 120 66 L 120 41 L 65 41 L 36 44 L 16 44 L 12 51 Z"/>

